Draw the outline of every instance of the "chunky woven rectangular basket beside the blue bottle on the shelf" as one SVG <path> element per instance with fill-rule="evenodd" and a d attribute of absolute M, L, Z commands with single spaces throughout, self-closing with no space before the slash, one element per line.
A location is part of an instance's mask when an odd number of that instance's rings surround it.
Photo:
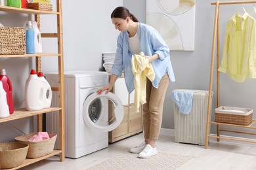
<path fill-rule="evenodd" d="M 0 55 L 26 54 L 24 27 L 0 27 Z"/>

